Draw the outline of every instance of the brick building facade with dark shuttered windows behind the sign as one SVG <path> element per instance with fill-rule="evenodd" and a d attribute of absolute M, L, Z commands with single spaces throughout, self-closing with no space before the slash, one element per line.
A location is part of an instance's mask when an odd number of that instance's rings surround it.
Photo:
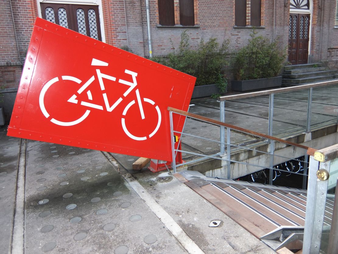
<path fill-rule="evenodd" d="M 297 28 L 307 32 L 309 37 L 309 50 L 304 61 L 330 61 L 337 65 L 336 4 L 337 0 L 149 0 L 152 54 L 171 52 L 172 43 L 174 47 L 178 46 L 184 29 L 188 30 L 193 47 L 202 38 L 216 37 L 219 42 L 229 39 L 231 50 L 239 49 L 247 43 L 252 26 L 257 27 L 259 34 L 276 39 L 281 47 L 285 47 L 290 36 L 293 37 L 293 30 L 291 33 L 289 29 L 294 25 L 291 16 L 300 13 L 309 17 L 309 20 L 303 20 L 308 22 L 303 23 L 308 25 L 307 28 Z M 61 24 L 65 20 L 60 16 L 58 6 L 66 13 L 69 7 L 76 9 L 86 5 L 97 8 L 94 16 L 99 39 L 129 48 L 134 54 L 149 56 L 146 0 L 2 0 L 0 85 L 5 86 L 5 92 L 15 92 L 18 87 L 35 18 L 54 18 Z M 58 17 L 50 16 L 52 8 L 56 16 L 58 8 Z M 73 14 L 72 22 L 76 28 Z M 68 19 L 71 15 L 68 13 Z"/>

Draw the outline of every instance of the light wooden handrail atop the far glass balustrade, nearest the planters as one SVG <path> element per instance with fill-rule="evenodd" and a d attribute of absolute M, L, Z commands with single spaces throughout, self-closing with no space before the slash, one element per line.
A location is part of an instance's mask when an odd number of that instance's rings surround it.
<path fill-rule="evenodd" d="M 331 80 L 331 81 L 317 82 L 317 83 L 308 84 L 308 85 L 292 86 L 292 87 L 286 87 L 286 88 L 276 88 L 276 89 L 264 90 L 264 91 L 258 91 L 258 92 L 248 92 L 248 93 L 234 94 L 234 95 L 228 95 L 228 96 L 221 96 L 221 97 L 218 97 L 218 100 L 219 101 L 236 100 L 236 99 L 267 95 L 271 93 L 290 92 L 290 91 L 296 91 L 296 90 L 301 90 L 301 89 L 307 89 L 311 87 L 327 86 L 327 85 L 333 85 L 333 84 L 338 84 L 338 79 Z"/>

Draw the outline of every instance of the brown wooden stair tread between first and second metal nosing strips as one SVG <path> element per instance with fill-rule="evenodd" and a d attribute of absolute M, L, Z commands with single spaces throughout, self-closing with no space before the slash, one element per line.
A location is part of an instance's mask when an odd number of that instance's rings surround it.
<path fill-rule="evenodd" d="M 270 210 L 271 208 L 264 207 L 264 206 L 260 205 L 259 203 L 255 202 L 254 200 L 251 200 L 249 197 L 242 195 L 238 191 L 236 191 L 236 190 L 234 190 L 230 187 L 226 187 L 225 190 L 228 191 L 229 193 L 233 194 L 234 196 L 238 197 L 239 199 L 241 199 L 243 202 L 245 202 L 246 204 L 248 204 L 252 208 L 260 211 L 261 213 L 266 215 L 268 218 L 271 218 L 276 223 L 278 223 L 280 226 L 282 226 L 282 225 L 283 226 L 295 226 L 294 224 L 292 224 L 287 219 L 285 219 L 285 218 L 281 217 L 280 215 L 276 214 L 274 211 L 271 211 Z"/>

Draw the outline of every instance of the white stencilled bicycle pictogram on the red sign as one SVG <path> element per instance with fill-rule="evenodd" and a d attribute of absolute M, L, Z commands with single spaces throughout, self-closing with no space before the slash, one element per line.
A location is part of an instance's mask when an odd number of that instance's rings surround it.
<path fill-rule="evenodd" d="M 93 58 L 91 65 L 92 66 L 108 66 L 108 63 Z M 81 94 L 82 92 L 84 92 L 88 88 L 88 86 L 97 78 L 98 81 L 99 81 L 99 84 L 100 84 L 101 91 L 102 91 L 102 96 L 103 96 L 103 100 L 104 100 L 104 104 L 105 104 L 104 105 L 105 109 L 108 112 L 112 112 L 123 101 L 123 99 L 132 90 L 134 90 L 136 88 L 136 86 L 137 86 L 136 77 L 137 77 L 138 73 L 133 72 L 131 70 L 127 70 L 127 69 L 125 69 L 124 72 L 127 73 L 127 74 L 129 74 L 129 75 L 131 75 L 133 82 L 129 82 L 129 81 L 126 81 L 126 80 L 119 79 L 119 81 L 118 81 L 119 83 L 124 84 L 124 85 L 128 85 L 129 88 L 123 93 L 123 96 L 121 96 L 117 101 L 115 101 L 113 103 L 113 105 L 110 105 L 110 103 L 108 101 L 107 94 L 105 92 L 105 87 L 104 87 L 103 79 L 108 79 L 108 80 L 111 80 L 111 81 L 116 81 L 116 78 L 113 77 L 113 76 L 101 73 L 101 71 L 100 71 L 99 68 L 96 69 L 96 75 L 94 74 L 91 78 L 89 78 L 88 81 L 84 82 L 84 84 L 77 90 L 76 93 L 73 94 L 73 96 L 67 102 L 75 103 L 75 104 L 80 104 L 80 105 L 87 106 L 87 107 L 94 108 L 94 109 L 104 110 L 104 107 L 102 105 L 97 105 L 97 104 L 90 103 L 90 102 L 85 102 L 85 101 L 80 101 L 79 102 L 79 100 L 77 100 L 78 95 Z M 77 84 L 81 84 L 82 83 L 82 81 L 80 79 L 75 78 L 73 76 L 61 76 L 61 79 L 62 80 L 73 81 L 73 82 L 75 82 Z M 55 78 L 49 80 L 44 85 L 44 87 L 42 88 L 42 90 L 40 92 L 39 105 L 40 105 L 42 113 L 44 114 L 44 116 L 46 118 L 49 118 L 50 114 L 47 112 L 46 107 L 45 107 L 45 101 L 44 101 L 45 100 L 45 94 L 46 94 L 47 90 L 53 84 L 56 84 L 58 81 L 59 81 L 58 77 L 55 77 Z M 124 108 L 123 113 L 122 113 L 122 117 L 121 117 L 121 124 L 122 124 L 123 131 L 125 132 L 125 134 L 128 137 L 130 137 L 131 139 L 134 139 L 134 140 L 141 141 L 141 140 L 146 140 L 148 138 L 151 138 L 159 130 L 160 125 L 161 125 L 161 111 L 160 111 L 159 106 L 155 105 L 154 101 L 152 101 L 152 100 L 150 100 L 148 98 L 141 98 L 139 89 L 135 89 L 135 93 L 136 93 L 137 102 L 135 100 L 132 100 Z M 92 93 L 91 93 L 91 91 L 89 89 L 87 90 L 87 97 L 88 97 L 89 101 L 93 100 Z M 128 113 L 128 110 L 130 109 L 130 107 L 132 107 L 134 104 L 136 104 L 136 105 L 139 106 L 139 110 L 140 110 L 140 114 L 141 114 L 142 120 L 145 119 L 145 112 L 144 112 L 144 107 L 143 107 L 142 103 L 149 103 L 149 104 L 152 105 L 152 107 L 154 107 L 156 109 L 156 112 L 157 112 L 157 115 L 158 115 L 158 122 L 156 124 L 154 124 L 155 128 L 152 130 L 151 133 L 147 133 L 147 135 L 144 135 L 144 136 L 135 136 L 135 135 L 131 134 L 131 132 L 127 129 L 126 124 L 125 124 L 125 118 L 126 118 L 126 115 Z M 81 123 L 84 119 L 86 119 L 88 117 L 88 115 L 90 114 L 90 112 L 91 112 L 90 109 L 86 109 L 86 112 L 81 117 L 75 119 L 74 121 L 70 121 L 70 122 L 62 122 L 62 121 L 56 120 L 55 118 L 52 118 L 50 121 L 52 123 L 56 124 L 56 125 L 72 126 L 72 125 L 76 125 L 76 124 Z"/>

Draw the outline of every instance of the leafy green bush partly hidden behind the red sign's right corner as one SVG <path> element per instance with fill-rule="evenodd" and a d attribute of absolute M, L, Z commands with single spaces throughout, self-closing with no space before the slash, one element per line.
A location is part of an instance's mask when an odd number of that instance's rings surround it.
<path fill-rule="evenodd" d="M 178 52 L 174 51 L 166 58 L 154 57 L 151 60 L 196 77 L 196 86 L 216 83 L 224 91 L 227 82 L 223 73 L 224 66 L 228 64 L 228 44 L 228 40 L 224 40 L 219 47 L 216 38 L 210 38 L 207 42 L 202 39 L 197 49 L 193 50 L 185 30 L 181 34 Z"/>

